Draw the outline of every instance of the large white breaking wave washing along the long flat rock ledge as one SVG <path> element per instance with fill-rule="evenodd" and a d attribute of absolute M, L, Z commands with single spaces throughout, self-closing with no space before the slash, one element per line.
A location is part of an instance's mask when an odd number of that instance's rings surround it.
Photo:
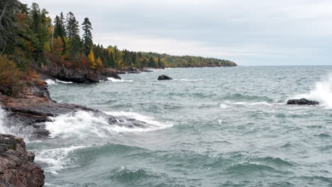
<path fill-rule="evenodd" d="M 106 112 L 118 117 L 118 123 L 109 124 L 108 120 L 94 113 L 77 111 L 50 118 L 52 121 L 45 123 L 45 128 L 51 137 L 107 137 L 109 133 L 118 132 L 148 132 L 172 127 L 172 124 L 162 124 L 153 118 L 132 112 Z M 121 117 L 123 120 L 121 120 Z M 143 125 L 135 124 L 142 122 Z M 133 123 L 133 124 L 131 124 Z"/>

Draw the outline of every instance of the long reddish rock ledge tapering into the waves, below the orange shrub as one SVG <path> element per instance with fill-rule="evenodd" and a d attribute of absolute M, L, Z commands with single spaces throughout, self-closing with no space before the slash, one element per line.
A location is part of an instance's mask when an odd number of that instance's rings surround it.
<path fill-rule="evenodd" d="M 135 124 L 140 124 L 140 128 L 146 126 L 138 120 L 119 119 L 85 106 L 57 103 L 50 98 L 47 84 L 41 79 L 31 81 L 16 98 L 0 93 L 0 106 L 8 111 L 4 125 L 15 127 L 18 132 L 24 132 L 24 135 L 28 134 L 31 140 L 47 138 L 50 135 L 50 132 L 45 129 L 45 122 L 52 121 L 50 117 L 77 111 L 86 111 L 96 117 L 104 118 L 109 125 L 121 123 L 121 126 L 136 126 Z"/>

